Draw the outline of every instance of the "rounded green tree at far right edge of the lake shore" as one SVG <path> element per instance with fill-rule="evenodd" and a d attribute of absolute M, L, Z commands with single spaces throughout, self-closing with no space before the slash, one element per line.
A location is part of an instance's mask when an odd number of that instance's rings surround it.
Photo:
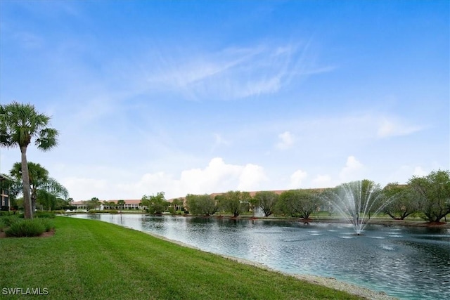
<path fill-rule="evenodd" d="M 450 214 L 450 172 L 432 171 L 428 176 L 413 176 L 409 185 L 420 200 L 420 212 L 425 221 L 439 222 Z"/>

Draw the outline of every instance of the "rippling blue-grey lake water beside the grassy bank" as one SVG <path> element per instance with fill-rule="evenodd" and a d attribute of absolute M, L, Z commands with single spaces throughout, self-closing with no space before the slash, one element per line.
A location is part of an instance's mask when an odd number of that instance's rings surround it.
<path fill-rule="evenodd" d="M 84 214 L 155 233 L 207 252 L 264 263 L 285 273 L 320 275 L 399 299 L 450 299 L 450 230 L 215 217 Z"/>

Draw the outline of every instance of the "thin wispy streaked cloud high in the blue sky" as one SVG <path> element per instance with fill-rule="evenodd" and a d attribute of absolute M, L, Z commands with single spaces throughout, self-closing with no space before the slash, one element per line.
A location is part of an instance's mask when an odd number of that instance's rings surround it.
<path fill-rule="evenodd" d="M 188 52 L 188 51 L 186 51 Z M 188 98 L 235 99 L 276 93 L 295 77 L 330 72 L 307 58 L 308 46 L 258 45 L 217 52 L 159 55 L 148 84 L 179 91 Z"/>

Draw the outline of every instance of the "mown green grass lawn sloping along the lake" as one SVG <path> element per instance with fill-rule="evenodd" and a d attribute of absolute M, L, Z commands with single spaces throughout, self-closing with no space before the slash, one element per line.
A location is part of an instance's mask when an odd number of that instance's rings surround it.
<path fill-rule="evenodd" d="M 58 216 L 53 237 L 0 240 L 5 288 L 46 299 L 359 299 L 110 223 Z"/>

